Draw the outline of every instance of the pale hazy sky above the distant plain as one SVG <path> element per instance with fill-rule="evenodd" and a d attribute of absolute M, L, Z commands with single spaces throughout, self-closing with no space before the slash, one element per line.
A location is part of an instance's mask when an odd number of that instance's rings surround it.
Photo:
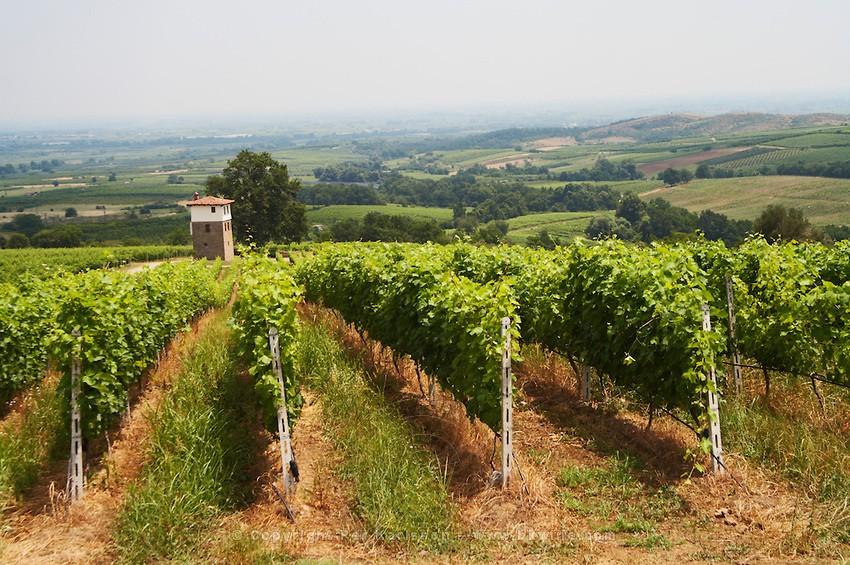
<path fill-rule="evenodd" d="M 848 0 L 26 0 L 0 123 L 850 94 Z"/>

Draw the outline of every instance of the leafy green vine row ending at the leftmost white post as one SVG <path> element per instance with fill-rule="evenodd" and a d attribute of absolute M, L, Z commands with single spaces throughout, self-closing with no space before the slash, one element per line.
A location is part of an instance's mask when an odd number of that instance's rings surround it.
<path fill-rule="evenodd" d="M 80 411 L 87 435 L 111 424 L 126 406 L 130 385 L 168 340 L 216 304 L 221 296 L 216 270 L 187 261 L 138 274 L 98 270 L 66 279 L 48 343 L 66 382 L 70 359 L 81 357 Z"/>

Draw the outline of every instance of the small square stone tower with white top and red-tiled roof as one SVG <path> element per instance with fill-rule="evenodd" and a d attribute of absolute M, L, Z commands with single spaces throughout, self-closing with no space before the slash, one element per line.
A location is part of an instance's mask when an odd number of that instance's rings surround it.
<path fill-rule="evenodd" d="M 186 204 L 192 215 L 189 233 L 192 234 L 196 258 L 233 259 L 231 204 L 233 200 L 215 196 L 201 198 L 197 192 L 192 201 Z"/>

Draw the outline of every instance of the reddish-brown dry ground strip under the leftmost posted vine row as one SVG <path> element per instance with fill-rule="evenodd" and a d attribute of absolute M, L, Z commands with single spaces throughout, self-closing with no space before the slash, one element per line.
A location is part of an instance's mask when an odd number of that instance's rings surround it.
<path fill-rule="evenodd" d="M 95 461 L 81 501 L 70 507 L 64 504 L 66 469 L 60 461 L 28 493 L 24 505 L 7 517 L 6 531 L 0 537 L 3 562 L 111 562 L 112 523 L 124 492 L 144 463 L 147 415 L 159 406 L 183 358 L 215 313 L 204 314 L 191 332 L 172 340 L 145 379 L 143 390 L 135 391 L 135 405 L 107 453 Z"/>

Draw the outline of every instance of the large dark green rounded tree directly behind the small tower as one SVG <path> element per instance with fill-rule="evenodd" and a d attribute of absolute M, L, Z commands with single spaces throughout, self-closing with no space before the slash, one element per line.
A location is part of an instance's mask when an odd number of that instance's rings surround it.
<path fill-rule="evenodd" d="M 207 195 L 234 200 L 233 226 L 239 240 L 298 241 L 307 235 L 304 205 L 295 199 L 301 183 L 269 153 L 242 150 L 221 175 L 207 178 Z"/>

